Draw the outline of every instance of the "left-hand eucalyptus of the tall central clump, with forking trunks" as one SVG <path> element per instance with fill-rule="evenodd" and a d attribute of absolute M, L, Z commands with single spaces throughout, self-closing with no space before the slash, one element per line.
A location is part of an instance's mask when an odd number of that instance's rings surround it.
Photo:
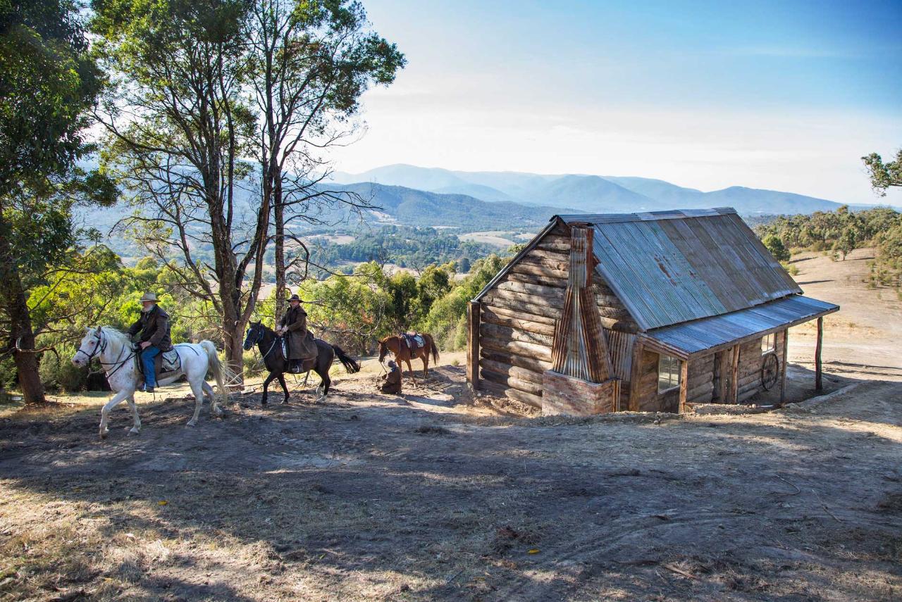
<path fill-rule="evenodd" d="M 91 23 L 109 74 L 97 111 L 108 133 L 102 165 L 134 207 L 122 225 L 181 288 L 214 307 L 239 375 L 271 213 L 243 188 L 256 129 L 245 102 L 252 7 L 95 0 Z"/>

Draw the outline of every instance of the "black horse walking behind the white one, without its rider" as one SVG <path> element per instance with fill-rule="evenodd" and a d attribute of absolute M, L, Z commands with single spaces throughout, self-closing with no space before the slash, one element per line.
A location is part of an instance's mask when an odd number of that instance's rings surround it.
<path fill-rule="evenodd" d="M 323 395 L 317 400 L 321 401 L 329 393 L 329 385 L 332 384 L 332 379 L 329 379 L 329 369 L 332 368 L 332 362 L 335 361 L 336 357 L 345 366 L 348 374 L 359 372 L 360 365 L 354 361 L 354 358 L 347 355 L 345 351 L 342 351 L 340 347 L 330 345 L 320 339 L 314 339 L 314 341 L 317 342 L 318 354 L 317 360 L 313 365 L 313 371 L 323 380 L 320 384 L 320 387 L 323 387 Z M 281 338 L 269 326 L 260 322 L 252 322 L 247 329 L 247 336 L 244 337 L 244 351 L 250 351 L 254 344 L 260 350 L 266 369 L 270 371 L 269 376 L 263 381 L 263 397 L 260 403 L 264 406 L 266 405 L 266 388 L 270 386 L 272 379 L 279 379 L 282 391 L 285 392 L 285 401 L 283 403 L 288 403 L 289 392 L 288 387 L 285 385 L 285 372 L 289 370 L 288 361 L 285 360 L 285 355 L 281 351 Z"/>

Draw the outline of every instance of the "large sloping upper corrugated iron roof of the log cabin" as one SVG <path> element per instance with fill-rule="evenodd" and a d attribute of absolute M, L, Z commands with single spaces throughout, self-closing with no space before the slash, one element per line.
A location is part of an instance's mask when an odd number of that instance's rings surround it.
<path fill-rule="evenodd" d="M 642 330 L 802 292 L 729 207 L 557 218 L 594 224 L 596 269 Z"/>

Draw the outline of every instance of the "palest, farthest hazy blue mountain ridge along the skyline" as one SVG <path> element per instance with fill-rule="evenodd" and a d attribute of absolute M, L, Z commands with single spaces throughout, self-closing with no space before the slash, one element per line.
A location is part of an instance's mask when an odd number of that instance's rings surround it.
<path fill-rule="evenodd" d="M 487 203 L 544 205 L 585 213 L 633 213 L 662 209 L 731 206 L 745 215 L 810 214 L 842 203 L 777 190 L 729 187 L 702 192 L 652 178 L 540 175 L 514 171 L 452 171 L 413 165 L 387 165 L 364 173 L 336 172 L 337 184 L 371 182 L 382 186 L 472 196 Z"/>

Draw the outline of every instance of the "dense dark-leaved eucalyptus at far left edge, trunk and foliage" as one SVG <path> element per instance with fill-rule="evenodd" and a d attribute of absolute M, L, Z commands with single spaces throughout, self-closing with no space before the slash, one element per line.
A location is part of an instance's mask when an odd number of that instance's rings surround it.
<path fill-rule="evenodd" d="M 87 114 L 100 78 L 78 6 L 0 2 L 0 355 L 12 354 L 26 402 L 44 398 L 35 335 L 68 309 L 32 324 L 30 290 L 78 269 L 79 203 L 110 203 L 115 188 L 78 166 L 91 149 Z"/>

